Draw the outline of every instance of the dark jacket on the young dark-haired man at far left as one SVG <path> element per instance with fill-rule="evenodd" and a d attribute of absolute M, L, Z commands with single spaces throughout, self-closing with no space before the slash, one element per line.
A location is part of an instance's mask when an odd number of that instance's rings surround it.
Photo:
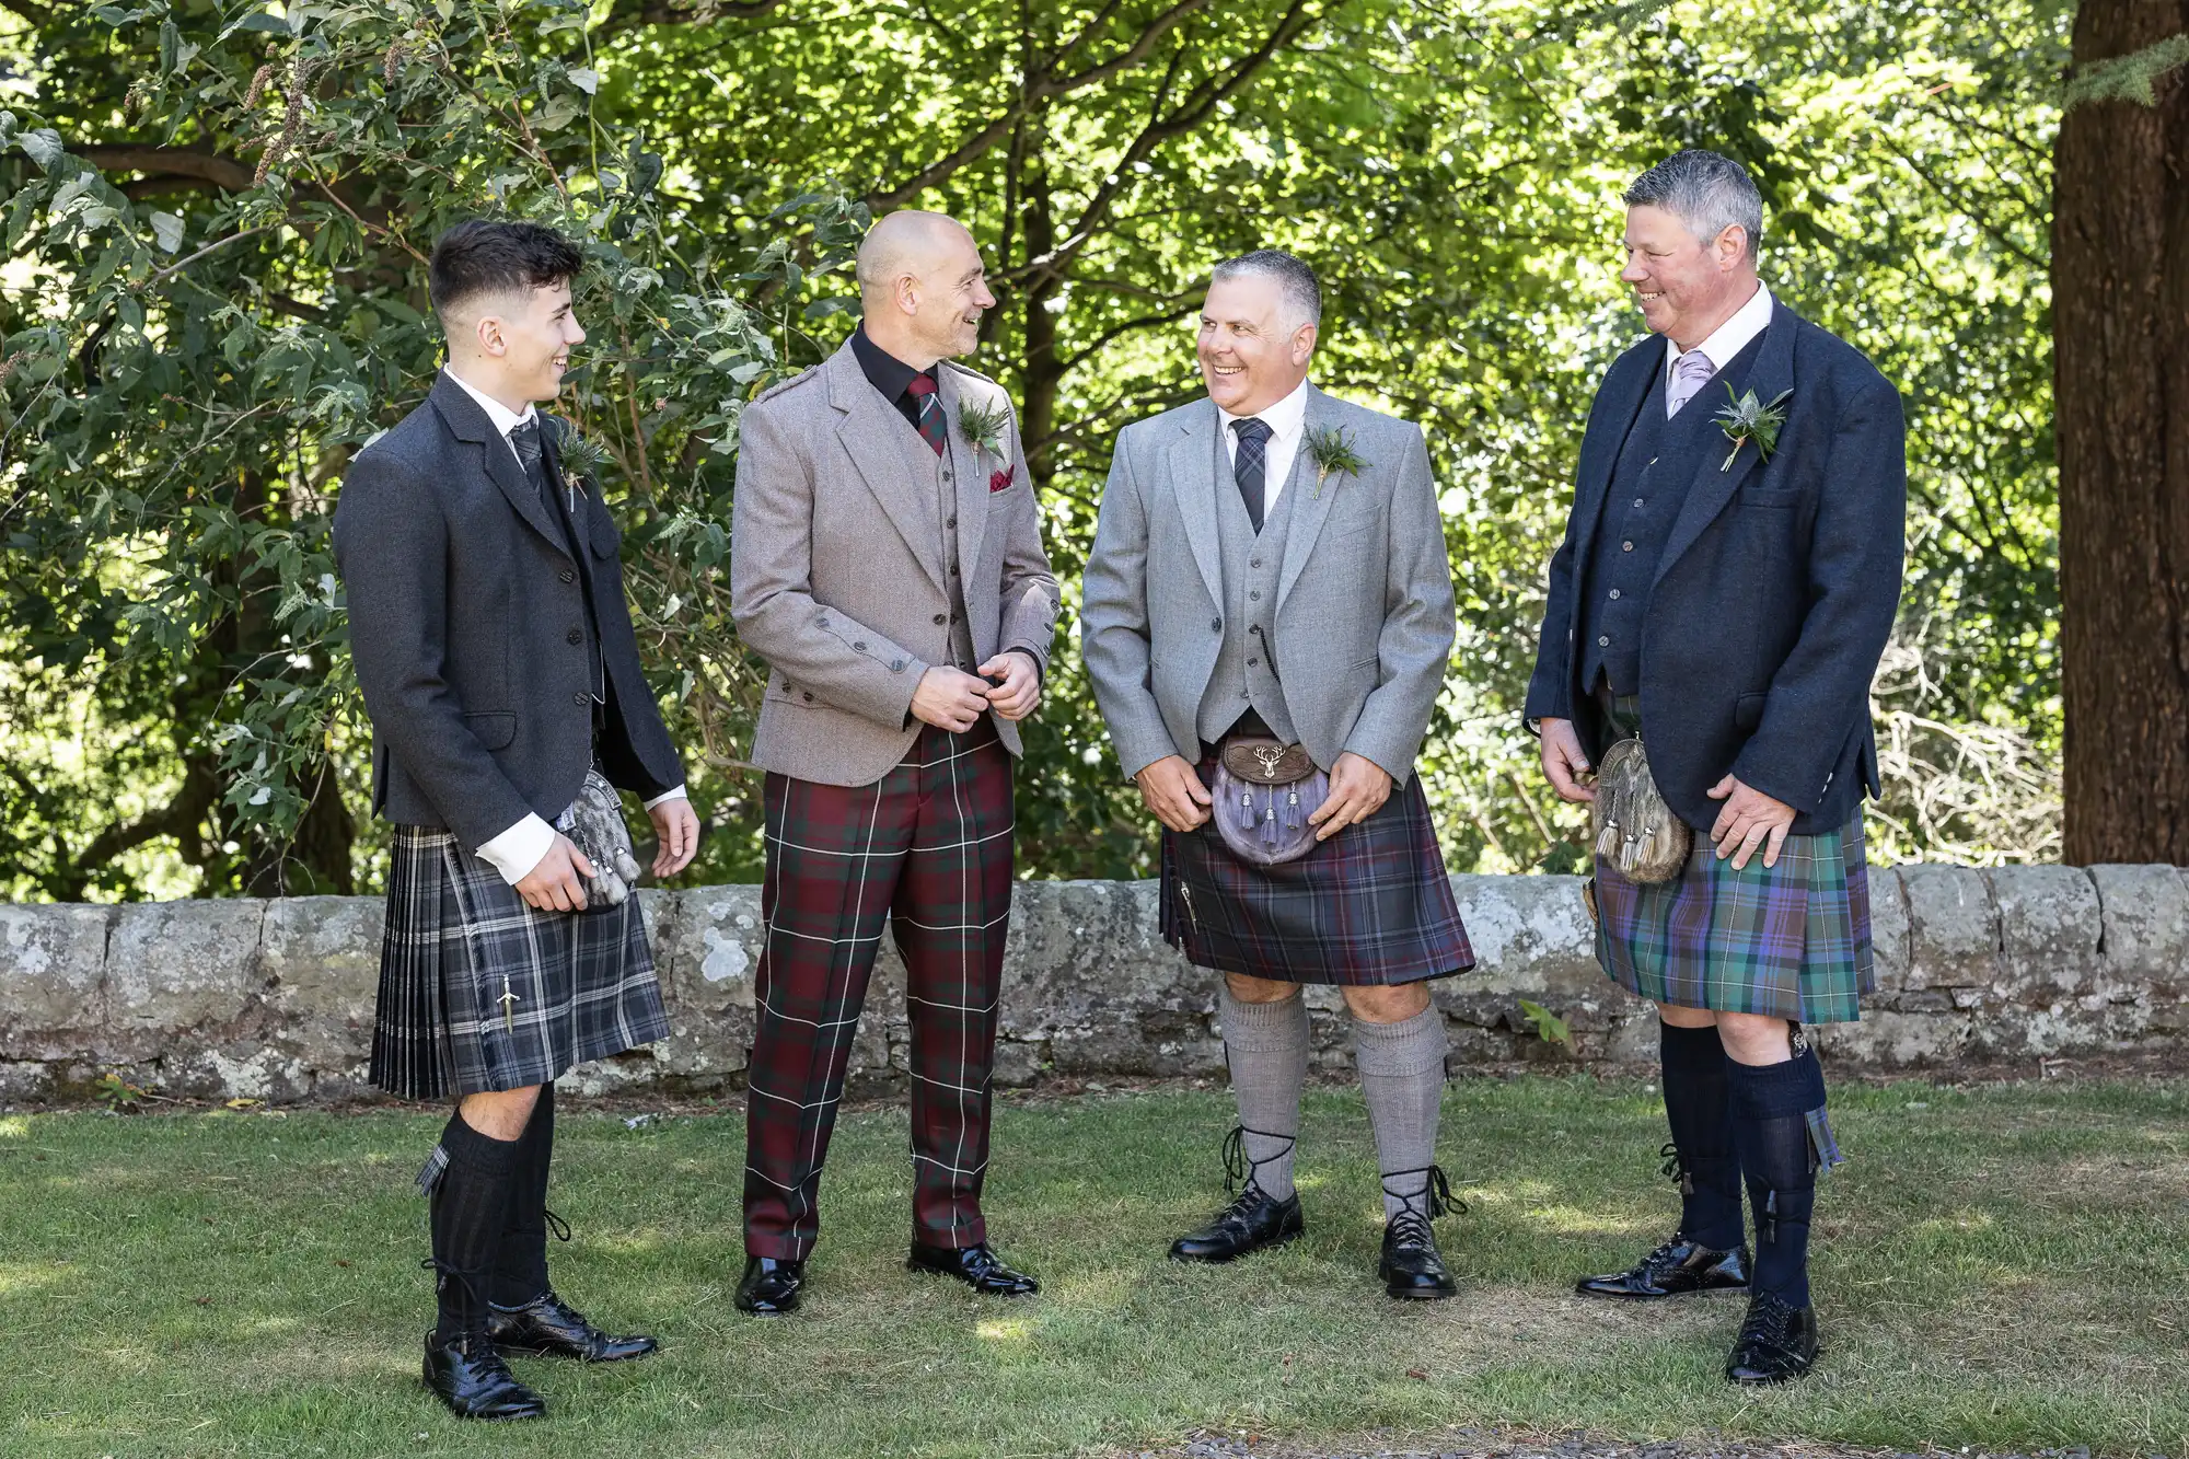
<path fill-rule="evenodd" d="M 545 423 L 547 469 L 560 480 Z M 442 375 L 359 451 L 335 504 L 350 653 L 372 716 L 372 808 L 453 830 L 466 852 L 525 813 L 554 819 L 593 762 L 593 653 L 606 675 L 602 771 L 661 795 L 683 782 L 624 602 L 622 535 L 587 482 L 578 563 L 486 412 Z"/>

